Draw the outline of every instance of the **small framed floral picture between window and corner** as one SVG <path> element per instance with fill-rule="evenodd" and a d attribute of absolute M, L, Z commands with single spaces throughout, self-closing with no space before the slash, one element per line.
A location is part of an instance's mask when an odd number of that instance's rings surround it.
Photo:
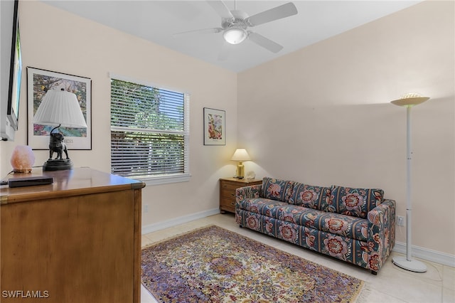
<path fill-rule="evenodd" d="M 204 145 L 226 145 L 226 112 L 204 107 Z"/>

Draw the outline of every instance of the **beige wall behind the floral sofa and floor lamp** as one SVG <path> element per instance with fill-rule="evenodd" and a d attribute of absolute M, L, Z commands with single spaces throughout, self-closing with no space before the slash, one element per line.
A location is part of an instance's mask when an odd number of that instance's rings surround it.
<path fill-rule="evenodd" d="M 412 109 L 412 244 L 455 255 L 454 65 L 454 2 L 426 1 L 240 73 L 245 169 L 383 188 L 405 216 L 406 110 L 389 102 L 428 95 Z"/>

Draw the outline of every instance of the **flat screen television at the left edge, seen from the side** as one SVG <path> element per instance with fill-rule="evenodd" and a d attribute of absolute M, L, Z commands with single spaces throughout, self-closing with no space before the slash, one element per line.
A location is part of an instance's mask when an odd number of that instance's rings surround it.
<path fill-rule="evenodd" d="M 18 23 L 18 0 L 13 1 L 3 1 L 1 0 L 1 16 L 2 19 L 6 21 L 11 20 L 10 23 L 12 26 L 6 24 L 6 28 L 12 28 L 12 39 L 11 39 L 11 50 L 9 53 L 9 58 L 1 58 L 2 65 L 5 64 L 9 66 L 9 85 L 8 85 L 8 95 L 1 95 L 1 139 L 3 140 L 14 140 L 14 132 L 18 129 L 18 120 L 19 120 L 19 101 L 21 96 L 21 78 L 22 78 L 22 58 L 21 58 L 21 36 L 19 33 L 19 23 Z M 13 4 L 12 7 L 6 4 Z M 11 18 L 12 11 L 12 18 Z M 9 18 L 4 18 L 9 16 Z M 11 22 L 10 21 L 10 22 Z M 2 28 L 5 24 L 2 22 Z M 11 32 L 10 32 L 11 33 Z M 5 37 L 2 33 L 2 36 Z M 8 35 L 9 36 L 9 35 Z M 10 37 L 11 37 L 10 36 Z M 9 41 L 2 41 L 4 42 Z M 3 82 L 3 81 L 2 81 Z M 3 90 L 2 83 L 2 90 Z M 6 102 L 5 102 L 6 101 Z M 4 104 L 6 103 L 6 107 Z"/>

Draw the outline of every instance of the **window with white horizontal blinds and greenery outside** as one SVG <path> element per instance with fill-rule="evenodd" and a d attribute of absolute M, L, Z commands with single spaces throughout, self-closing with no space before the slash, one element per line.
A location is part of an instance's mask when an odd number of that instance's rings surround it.
<path fill-rule="evenodd" d="M 189 179 L 189 95 L 111 78 L 111 172 L 164 184 Z"/>

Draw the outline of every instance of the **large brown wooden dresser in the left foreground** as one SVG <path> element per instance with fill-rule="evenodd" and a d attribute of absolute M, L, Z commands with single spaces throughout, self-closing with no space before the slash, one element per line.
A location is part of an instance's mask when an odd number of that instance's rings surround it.
<path fill-rule="evenodd" d="M 0 186 L 1 302 L 139 303 L 140 181 L 88 168 Z"/>

